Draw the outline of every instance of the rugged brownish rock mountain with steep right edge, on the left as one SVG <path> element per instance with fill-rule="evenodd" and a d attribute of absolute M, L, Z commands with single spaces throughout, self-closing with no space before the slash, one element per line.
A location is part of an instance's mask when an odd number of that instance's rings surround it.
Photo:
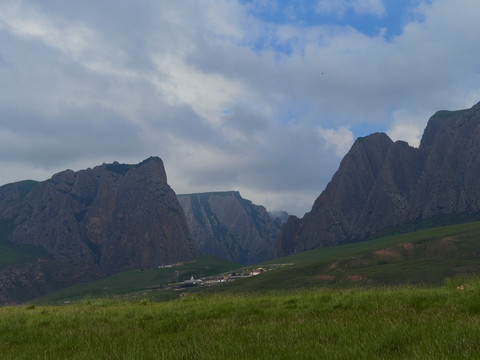
<path fill-rule="evenodd" d="M 15 274 L 28 282 L 30 273 L 32 281 L 40 276 L 66 285 L 198 254 L 163 163 L 154 157 L 2 186 L 0 223 L 3 243 L 43 253 L 35 265 L 4 270 L 10 283 Z M 48 272 L 46 264 L 56 270 Z M 0 290 L 1 279 L 2 273 Z"/>

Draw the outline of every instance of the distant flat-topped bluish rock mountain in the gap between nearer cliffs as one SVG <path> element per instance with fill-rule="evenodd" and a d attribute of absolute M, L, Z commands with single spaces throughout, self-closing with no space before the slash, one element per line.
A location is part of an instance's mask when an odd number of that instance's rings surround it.
<path fill-rule="evenodd" d="M 281 219 L 237 191 L 178 195 L 192 240 L 202 254 L 241 264 L 261 262 L 272 255 Z"/>

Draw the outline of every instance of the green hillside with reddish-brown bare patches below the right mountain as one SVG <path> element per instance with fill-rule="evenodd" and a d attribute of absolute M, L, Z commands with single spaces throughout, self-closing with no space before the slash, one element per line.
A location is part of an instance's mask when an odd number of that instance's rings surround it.
<path fill-rule="evenodd" d="M 448 277 L 480 273 L 480 222 L 316 249 L 273 263 L 283 266 L 218 291 L 438 285 Z"/>

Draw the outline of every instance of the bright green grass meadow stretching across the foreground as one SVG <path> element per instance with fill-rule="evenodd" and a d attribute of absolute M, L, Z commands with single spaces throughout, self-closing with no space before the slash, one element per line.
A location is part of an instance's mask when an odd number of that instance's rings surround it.
<path fill-rule="evenodd" d="M 1 359 L 478 359 L 480 280 L 0 308 Z"/>

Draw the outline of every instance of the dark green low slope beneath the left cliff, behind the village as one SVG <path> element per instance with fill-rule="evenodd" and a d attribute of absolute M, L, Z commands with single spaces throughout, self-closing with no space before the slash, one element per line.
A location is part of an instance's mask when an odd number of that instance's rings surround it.
<path fill-rule="evenodd" d="M 122 296 L 129 298 L 148 296 L 157 300 L 168 300 L 179 295 L 178 292 L 173 291 L 171 286 L 168 286 L 168 284 L 176 282 L 177 271 L 178 280 L 184 281 L 192 275 L 195 278 L 201 278 L 231 271 L 240 266 L 216 256 L 206 255 L 182 265 L 130 270 L 97 281 L 74 285 L 42 296 L 32 303 L 58 304 L 85 298 Z"/>

